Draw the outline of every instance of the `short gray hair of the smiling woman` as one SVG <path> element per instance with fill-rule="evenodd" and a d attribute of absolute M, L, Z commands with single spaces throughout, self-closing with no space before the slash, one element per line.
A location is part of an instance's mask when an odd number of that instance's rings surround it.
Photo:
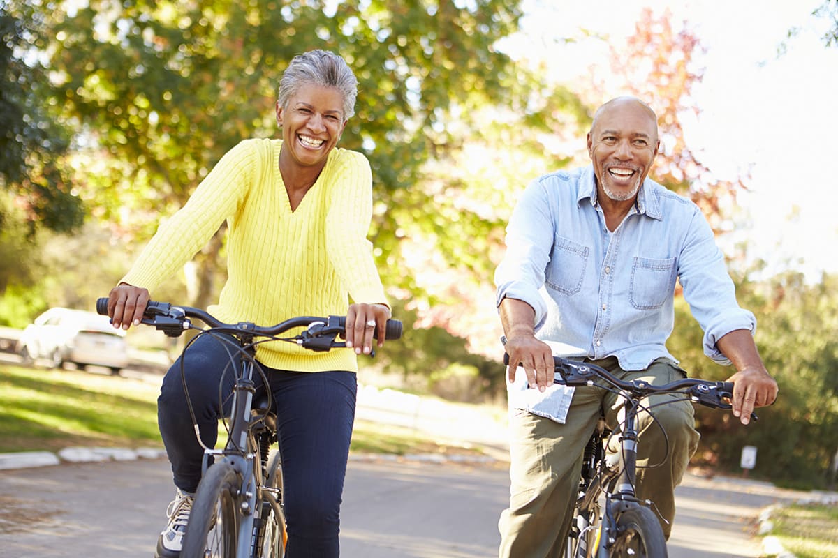
<path fill-rule="evenodd" d="M 305 84 L 334 87 L 344 98 L 344 120 L 355 114 L 355 97 L 358 96 L 358 79 L 349 69 L 346 60 L 328 50 L 309 50 L 297 54 L 288 64 L 279 80 L 277 101 L 287 108 L 288 100 Z"/>

